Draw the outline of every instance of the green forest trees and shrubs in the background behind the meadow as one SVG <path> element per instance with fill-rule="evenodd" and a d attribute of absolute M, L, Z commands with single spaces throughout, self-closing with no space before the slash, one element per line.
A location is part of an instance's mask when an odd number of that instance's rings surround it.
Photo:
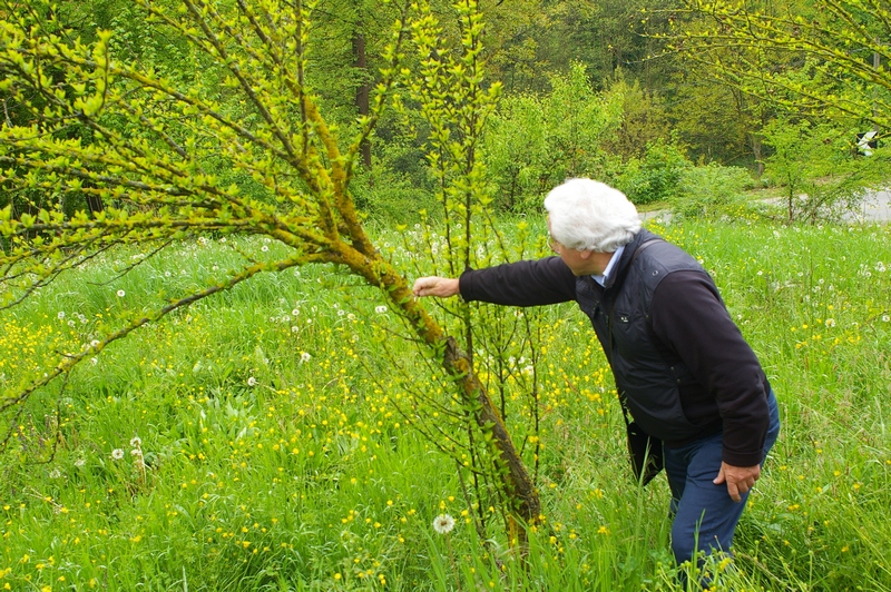
<path fill-rule="evenodd" d="M 180 85 L 200 78 L 205 92 L 216 88 L 215 99 L 226 102 L 225 68 L 187 43 L 153 36 L 131 2 L 7 4 L 37 20 L 51 14 L 68 39 L 89 43 L 97 31 L 112 31 L 114 55 Z M 369 114 L 399 9 L 379 0 L 311 6 L 306 85 L 347 135 Z M 746 190 L 775 188 L 770 195 L 786 199 L 773 214 L 814 221 L 838 217 L 887 177 L 884 158 L 855 158 L 864 134 L 872 146 L 882 142 L 891 111 L 882 2 L 831 10 L 822 2 L 483 0 L 479 8 L 483 83 L 501 89 L 480 157 L 502 211 L 537 213 L 549 188 L 588 176 L 638 205 L 670 205 L 682 215 L 719 217 Z M 451 7 L 434 1 L 430 9 L 446 23 L 449 47 L 458 34 Z M 753 14 L 764 22 L 753 26 Z M 247 109 L 237 101 L 226 107 Z M 4 99 L 3 109 L 7 122 L 27 121 L 14 101 Z M 353 185 L 360 209 L 390 220 L 414 219 L 424 208 L 435 215 L 429 135 L 411 108 L 378 124 Z M 225 167 L 218 172 L 251 190 Z M 69 210 L 84 206 L 68 197 Z"/>

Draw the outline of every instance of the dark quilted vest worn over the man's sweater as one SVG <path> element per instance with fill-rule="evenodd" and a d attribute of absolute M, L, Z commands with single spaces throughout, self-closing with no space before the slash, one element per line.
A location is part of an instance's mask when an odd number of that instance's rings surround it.
<path fill-rule="evenodd" d="M 653 239 L 635 256 L 642 244 Z M 703 274 L 719 299 L 714 282 L 696 259 L 647 230 L 635 235 L 616 267 L 606 288 L 590 276 L 577 278 L 576 297 L 613 367 L 619 398 L 652 436 L 683 442 L 702 435 L 704 426 L 692 424 L 681 406 L 678 385 L 689 382 L 692 374 L 653 335 L 649 304 L 656 286 L 673 272 Z"/>

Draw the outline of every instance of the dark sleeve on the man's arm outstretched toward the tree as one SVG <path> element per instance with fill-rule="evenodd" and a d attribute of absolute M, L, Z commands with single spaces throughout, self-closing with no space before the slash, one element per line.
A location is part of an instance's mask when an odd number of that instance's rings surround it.
<path fill-rule="evenodd" d="M 459 282 L 461 296 L 510 306 L 539 306 L 574 300 L 576 276 L 559 257 L 468 269 Z"/>

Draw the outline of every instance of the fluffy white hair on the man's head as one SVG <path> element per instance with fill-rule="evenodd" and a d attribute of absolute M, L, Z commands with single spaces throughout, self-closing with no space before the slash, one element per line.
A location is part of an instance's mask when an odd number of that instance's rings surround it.
<path fill-rule="evenodd" d="M 545 198 L 550 235 L 578 250 L 613 253 L 640 230 L 640 217 L 625 194 L 591 179 L 569 179 Z"/>

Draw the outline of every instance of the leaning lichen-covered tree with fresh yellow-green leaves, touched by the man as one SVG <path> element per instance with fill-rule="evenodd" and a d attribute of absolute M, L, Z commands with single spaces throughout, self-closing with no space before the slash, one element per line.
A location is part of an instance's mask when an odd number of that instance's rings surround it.
<path fill-rule="evenodd" d="M 467 349 L 459 347 L 412 297 L 405 277 L 365 233 L 350 188 L 363 142 L 407 82 L 405 92 L 420 100 L 431 121 L 430 158 L 447 214 L 463 220 L 450 227 L 460 229 L 450 244 L 462 263 L 470 262 L 471 215 L 484 213 L 489 203 L 480 189 L 477 141 L 498 95 L 482 83 L 476 1 L 453 3 L 461 39 L 452 51 L 439 45 L 441 29 L 427 2 L 402 3 L 370 112 L 347 144 L 321 112 L 309 76 L 312 2 L 136 3 L 155 34 L 182 43 L 205 71 L 184 83 L 119 61 L 110 32 L 100 31 L 90 45 L 68 41 L 52 32 L 58 22 L 51 11 L 42 12 L 46 18 L 35 18 L 40 10 L 9 11 L 0 21 L 0 92 L 26 114 L 23 122 L 0 128 L 0 184 L 33 206 L 0 210 L 0 306 L 33 297 L 118 245 L 149 244 L 159 251 L 216 233 L 262 235 L 292 250 L 280 260 L 253 260 L 224 280 L 158 303 L 81 351 L 60 353 L 45 373 L 0 395 L 0 446 L 10 446 L 31 395 L 63 384 L 72 368 L 110 343 L 258 274 L 333 263 L 379 287 L 453 381 L 466 426 L 477 434 L 468 445 L 490 458 L 480 466 L 490 466 L 510 524 L 538 520 L 538 493 L 474 372 L 470 339 Z M 38 4 L 48 7 L 29 3 Z M 408 67 L 411 48 L 420 76 Z M 72 128 L 87 130 L 92 141 Z M 69 214 L 59 200 L 69 193 L 100 197 L 107 207 Z M 33 204 L 33 195 L 45 201 Z"/>

